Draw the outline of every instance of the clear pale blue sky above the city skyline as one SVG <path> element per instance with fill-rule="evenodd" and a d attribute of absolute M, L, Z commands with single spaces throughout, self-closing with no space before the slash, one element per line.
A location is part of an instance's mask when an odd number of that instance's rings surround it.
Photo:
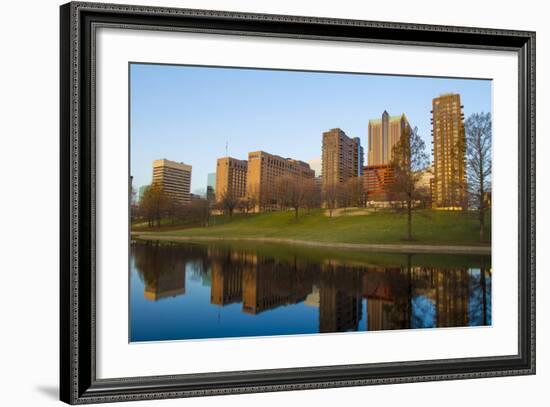
<path fill-rule="evenodd" d="M 206 189 L 216 159 L 264 150 L 317 162 L 322 133 L 360 137 L 367 163 L 369 119 L 405 113 L 430 143 L 432 99 L 459 93 L 467 118 L 490 112 L 490 80 L 132 64 L 130 166 L 149 184 L 152 161 L 193 167 L 191 191 Z M 317 175 L 320 175 L 318 173 Z"/>

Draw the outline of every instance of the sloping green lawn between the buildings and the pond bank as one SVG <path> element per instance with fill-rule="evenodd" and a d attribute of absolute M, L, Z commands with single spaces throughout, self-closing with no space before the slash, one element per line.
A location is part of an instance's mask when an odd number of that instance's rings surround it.
<path fill-rule="evenodd" d="M 486 216 L 485 242 L 479 241 L 475 215 L 451 211 L 420 210 L 413 215 L 413 237 L 417 244 L 487 245 L 490 244 L 490 214 Z M 363 215 L 328 217 L 324 210 L 311 213 L 268 212 L 214 216 L 212 225 L 204 227 L 168 228 L 159 235 L 188 237 L 286 238 L 339 243 L 403 243 L 406 235 L 405 214 L 378 211 Z"/>

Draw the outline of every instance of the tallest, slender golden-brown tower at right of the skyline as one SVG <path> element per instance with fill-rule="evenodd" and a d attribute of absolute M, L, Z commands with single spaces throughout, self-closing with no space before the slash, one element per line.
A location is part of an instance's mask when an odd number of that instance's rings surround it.
<path fill-rule="evenodd" d="M 464 205 L 466 136 L 462 108 L 456 93 L 443 94 L 432 102 L 432 205 L 436 208 Z"/>

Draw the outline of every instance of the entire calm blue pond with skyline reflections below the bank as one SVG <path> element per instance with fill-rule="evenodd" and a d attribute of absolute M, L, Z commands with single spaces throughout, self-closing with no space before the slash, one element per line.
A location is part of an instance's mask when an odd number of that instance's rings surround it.
<path fill-rule="evenodd" d="M 132 242 L 130 341 L 491 324 L 489 256 Z"/>

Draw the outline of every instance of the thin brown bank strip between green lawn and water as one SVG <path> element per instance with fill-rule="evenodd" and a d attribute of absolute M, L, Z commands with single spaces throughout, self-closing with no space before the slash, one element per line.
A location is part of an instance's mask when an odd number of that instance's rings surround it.
<path fill-rule="evenodd" d="M 170 236 L 157 235 L 154 232 L 131 232 L 131 238 L 140 240 L 163 240 L 170 242 L 258 242 L 281 243 L 306 247 L 336 248 L 365 251 L 379 251 L 385 253 L 434 253 L 434 254 L 476 254 L 490 255 L 491 246 L 462 246 L 462 245 L 428 245 L 428 244 L 376 244 L 376 243 L 340 243 L 318 242 L 299 239 L 285 239 L 272 237 L 215 237 L 215 236 Z"/>

